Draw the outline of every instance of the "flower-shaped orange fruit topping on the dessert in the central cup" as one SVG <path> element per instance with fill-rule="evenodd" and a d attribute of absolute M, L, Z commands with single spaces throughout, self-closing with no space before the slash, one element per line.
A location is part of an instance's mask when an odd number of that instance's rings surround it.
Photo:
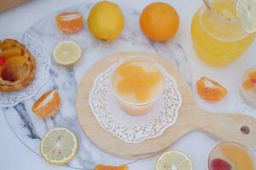
<path fill-rule="evenodd" d="M 136 94 L 137 100 L 147 101 L 150 97 L 150 88 L 160 81 L 159 72 L 147 72 L 142 66 L 120 65 L 118 73 L 123 80 L 118 84 L 120 94 Z"/>

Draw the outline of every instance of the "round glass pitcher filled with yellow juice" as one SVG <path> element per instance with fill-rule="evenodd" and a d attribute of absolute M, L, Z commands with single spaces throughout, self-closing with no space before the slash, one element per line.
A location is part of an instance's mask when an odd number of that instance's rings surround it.
<path fill-rule="evenodd" d="M 252 44 L 236 16 L 236 0 L 203 0 L 191 23 L 195 52 L 207 65 L 226 66 Z"/>

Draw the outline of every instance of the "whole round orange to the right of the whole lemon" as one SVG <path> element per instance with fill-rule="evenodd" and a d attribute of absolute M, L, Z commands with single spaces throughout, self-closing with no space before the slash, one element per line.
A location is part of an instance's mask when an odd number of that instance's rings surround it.
<path fill-rule="evenodd" d="M 150 3 L 140 16 L 140 26 L 144 34 L 158 42 L 173 37 L 178 25 L 177 11 L 167 3 Z"/>

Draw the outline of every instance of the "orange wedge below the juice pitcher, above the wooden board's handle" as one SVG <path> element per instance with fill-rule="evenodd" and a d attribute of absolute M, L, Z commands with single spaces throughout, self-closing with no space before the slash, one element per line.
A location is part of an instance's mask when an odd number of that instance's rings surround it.
<path fill-rule="evenodd" d="M 207 77 L 201 77 L 196 83 L 196 88 L 201 98 L 208 102 L 218 102 L 224 99 L 224 96 L 227 94 L 227 90 L 218 82 L 214 82 Z"/>

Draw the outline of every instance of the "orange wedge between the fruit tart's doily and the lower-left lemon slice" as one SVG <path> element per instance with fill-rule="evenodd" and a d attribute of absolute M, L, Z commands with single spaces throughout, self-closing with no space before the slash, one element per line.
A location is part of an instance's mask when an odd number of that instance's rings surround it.
<path fill-rule="evenodd" d="M 54 116 L 61 107 L 61 97 L 56 90 L 43 94 L 32 106 L 32 111 L 43 118 Z"/>

